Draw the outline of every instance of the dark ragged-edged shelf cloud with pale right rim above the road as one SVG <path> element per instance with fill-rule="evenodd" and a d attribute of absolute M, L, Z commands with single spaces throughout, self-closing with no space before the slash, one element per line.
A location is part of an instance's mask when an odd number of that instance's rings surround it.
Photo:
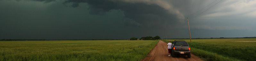
<path fill-rule="evenodd" d="M 78 7 L 79 3 L 88 3 L 90 14 L 93 15 L 104 15 L 105 12 L 109 12 L 111 9 L 121 10 L 124 12 L 125 18 L 123 21 L 127 26 L 162 27 L 169 26 L 166 23 L 174 24 L 180 20 L 176 18 L 176 14 L 169 14 L 167 9 L 156 4 L 109 0 L 68 0 L 64 2 L 64 4 L 66 3 L 73 3 L 72 7 Z"/>

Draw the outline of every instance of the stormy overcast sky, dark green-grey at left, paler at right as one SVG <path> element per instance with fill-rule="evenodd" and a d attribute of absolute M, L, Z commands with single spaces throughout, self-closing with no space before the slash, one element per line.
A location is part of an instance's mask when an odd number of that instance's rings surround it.
<path fill-rule="evenodd" d="M 256 0 L 0 0 L 0 39 L 255 37 Z"/>

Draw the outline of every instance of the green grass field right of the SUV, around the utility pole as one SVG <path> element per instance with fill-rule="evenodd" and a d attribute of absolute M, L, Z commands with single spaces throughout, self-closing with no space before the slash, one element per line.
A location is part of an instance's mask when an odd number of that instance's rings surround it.
<path fill-rule="evenodd" d="M 169 40 L 164 41 L 168 42 Z M 185 41 L 188 42 L 193 54 L 207 61 L 256 61 L 255 38 L 192 39 L 192 42 L 190 40 Z"/>

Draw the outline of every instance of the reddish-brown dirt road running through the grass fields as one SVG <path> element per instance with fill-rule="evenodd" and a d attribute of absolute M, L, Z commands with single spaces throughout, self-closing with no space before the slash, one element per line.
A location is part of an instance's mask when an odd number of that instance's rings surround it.
<path fill-rule="evenodd" d="M 167 47 L 167 43 L 160 40 L 147 57 L 141 61 L 203 61 L 194 54 L 191 54 L 191 58 L 181 55 L 173 58 L 172 56 L 168 56 Z"/>

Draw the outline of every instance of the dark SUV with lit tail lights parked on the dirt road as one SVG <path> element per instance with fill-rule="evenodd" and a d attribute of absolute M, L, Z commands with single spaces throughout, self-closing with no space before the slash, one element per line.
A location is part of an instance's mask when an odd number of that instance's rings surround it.
<path fill-rule="evenodd" d="M 191 57 L 190 47 L 185 40 L 174 40 L 172 44 L 172 57 L 176 57 L 176 55 L 187 55 L 187 58 Z"/>

